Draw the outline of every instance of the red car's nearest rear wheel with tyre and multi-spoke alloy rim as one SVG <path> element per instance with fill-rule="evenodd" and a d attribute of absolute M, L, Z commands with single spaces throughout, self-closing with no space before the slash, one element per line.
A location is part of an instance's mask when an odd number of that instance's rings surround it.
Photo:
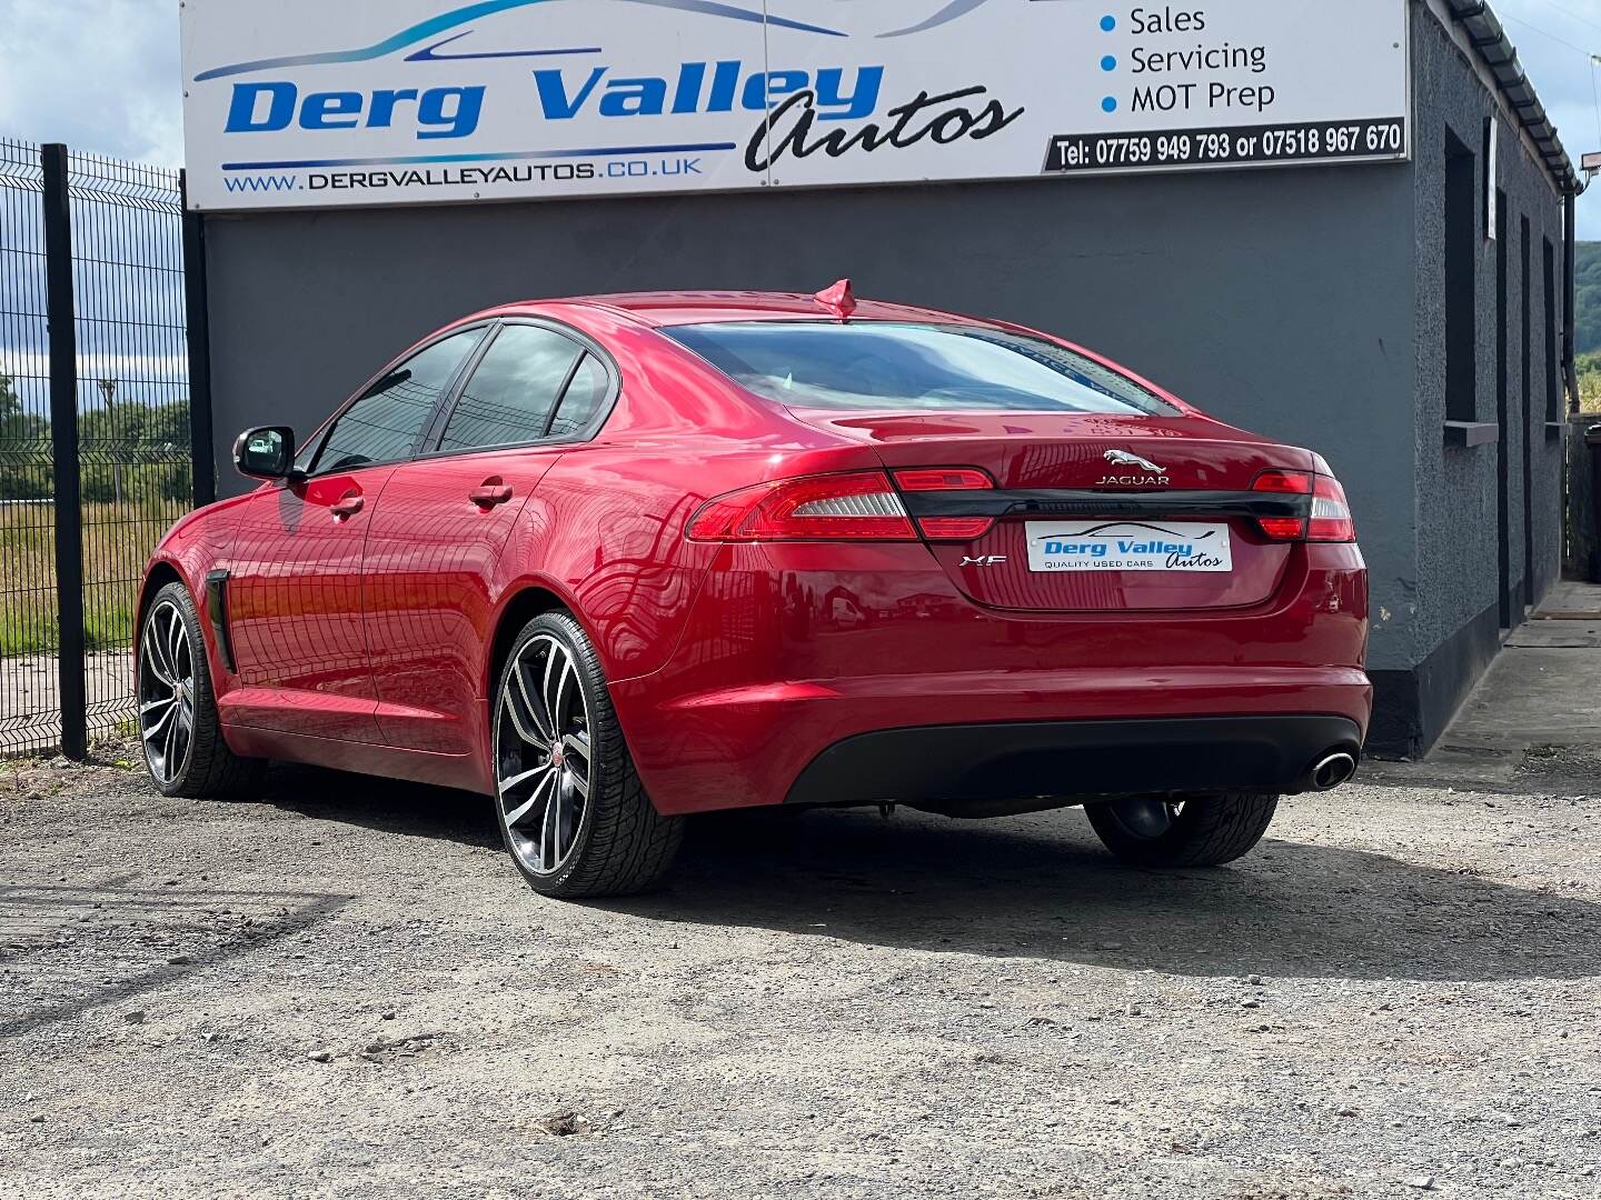
<path fill-rule="evenodd" d="M 645 795 L 583 627 L 567 613 L 533 618 L 490 702 L 495 819 L 528 886 L 578 899 L 660 883 L 684 818 Z"/>

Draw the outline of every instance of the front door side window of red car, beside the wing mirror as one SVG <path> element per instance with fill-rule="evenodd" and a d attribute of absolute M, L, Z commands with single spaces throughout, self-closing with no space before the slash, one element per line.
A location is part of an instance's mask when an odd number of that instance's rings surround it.
<path fill-rule="evenodd" d="M 352 403 L 323 442 L 312 474 L 408 458 L 440 395 L 484 330 L 463 330 L 387 371 Z"/>

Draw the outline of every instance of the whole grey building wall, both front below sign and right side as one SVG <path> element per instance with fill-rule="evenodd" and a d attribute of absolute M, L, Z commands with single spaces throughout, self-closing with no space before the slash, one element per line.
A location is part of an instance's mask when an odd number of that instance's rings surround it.
<path fill-rule="evenodd" d="M 1494 653 L 1481 614 L 1495 611 L 1499 450 L 1444 448 L 1439 384 L 1444 125 L 1478 144 L 1491 96 L 1426 10 L 1414 16 L 1414 165 L 213 214 L 219 488 L 243 488 L 229 462 L 239 429 L 309 430 L 394 354 L 469 310 L 640 288 L 810 291 L 850 275 L 865 296 L 1065 334 L 1214 416 L 1322 453 L 1372 568 L 1380 742 L 1415 749 Z M 1534 221 L 1539 286 L 1540 242 L 1553 227 L 1561 242 L 1559 202 L 1510 131 L 1502 149 L 1511 203 Z M 1479 411 L 1494 419 L 1486 254 Z M 1535 339 L 1540 379 L 1539 320 Z M 1559 470 L 1547 467 L 1543 392 L 1537 408 L 1543 586 Z M 1513 526 L 1521 538 L 1521 509 Z"/>

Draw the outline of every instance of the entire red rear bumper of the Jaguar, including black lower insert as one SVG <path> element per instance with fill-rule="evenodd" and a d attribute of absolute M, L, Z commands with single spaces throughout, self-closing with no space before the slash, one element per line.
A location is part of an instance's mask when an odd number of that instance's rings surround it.
<path fill-rule="evenodd" d="M 666 814 L 860 802 L 863 789 L 834 768 L 800 784 L 857 738 L 871 739 L 865 750 L 839 754 L 938 763 L 881 778 L 871 798 L 892 784 L 895 800 L 916 787 L 949 795 L 951 779 L 977 786 L 996 726 L 1044 730 L 1005 755 L 1017 776 L 999 787 L 1015 792 L 1007 798 L 1286 790 L 1311 755 L 1366 738 L 1366 574 L 1348 544 L 1297 546 L 1281 590 L 1252 608 L 1065 614 L 975 605 L 919 544 L 749 544 L 722 547 L 666 666 L 610 691 L 640 781 Z M 1318 723 L 1327 718 L 1343 725 Z M 1214 750 L 1182 731 L 1207 731 L 1209 720 L 1242 723 Z M 1108 725 L 1132 733 L 1090 754 Z M 946 754 L 945 738 L 961 752 Z M 1279 738 L 1287 746 L 1274 752 Z M 1146 754 L 1153 746 L 1170 749 Z M 1097 758 L 1116 781 L 1063 782 Z M 1186 760 L 1210 766 L 1186 773 Z M 1134 770 L 1154 773 L 1137 784 Z"/>

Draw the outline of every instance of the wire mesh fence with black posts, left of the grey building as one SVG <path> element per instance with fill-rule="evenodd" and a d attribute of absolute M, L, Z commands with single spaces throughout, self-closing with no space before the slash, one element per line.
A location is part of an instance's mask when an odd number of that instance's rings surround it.
<path fill-rule="evenodd" d="M 59 744 L 64 707 L 90 738 L 133 728 L 139 576 L 194 499 L 179 176 L 64 163 L 53 197 L 42 149 L 0 141 L 0 754 Z M 46 253 L 53 198 L 70 222 L 66 277 Z M 67 293 L 58 374 L 62 346 L 75 354 L 53 406 L 48 317 Z M 74 422 L 75 501 L 56 461 Z M 62 654 L 82 662 L 82 698 Z"/>

